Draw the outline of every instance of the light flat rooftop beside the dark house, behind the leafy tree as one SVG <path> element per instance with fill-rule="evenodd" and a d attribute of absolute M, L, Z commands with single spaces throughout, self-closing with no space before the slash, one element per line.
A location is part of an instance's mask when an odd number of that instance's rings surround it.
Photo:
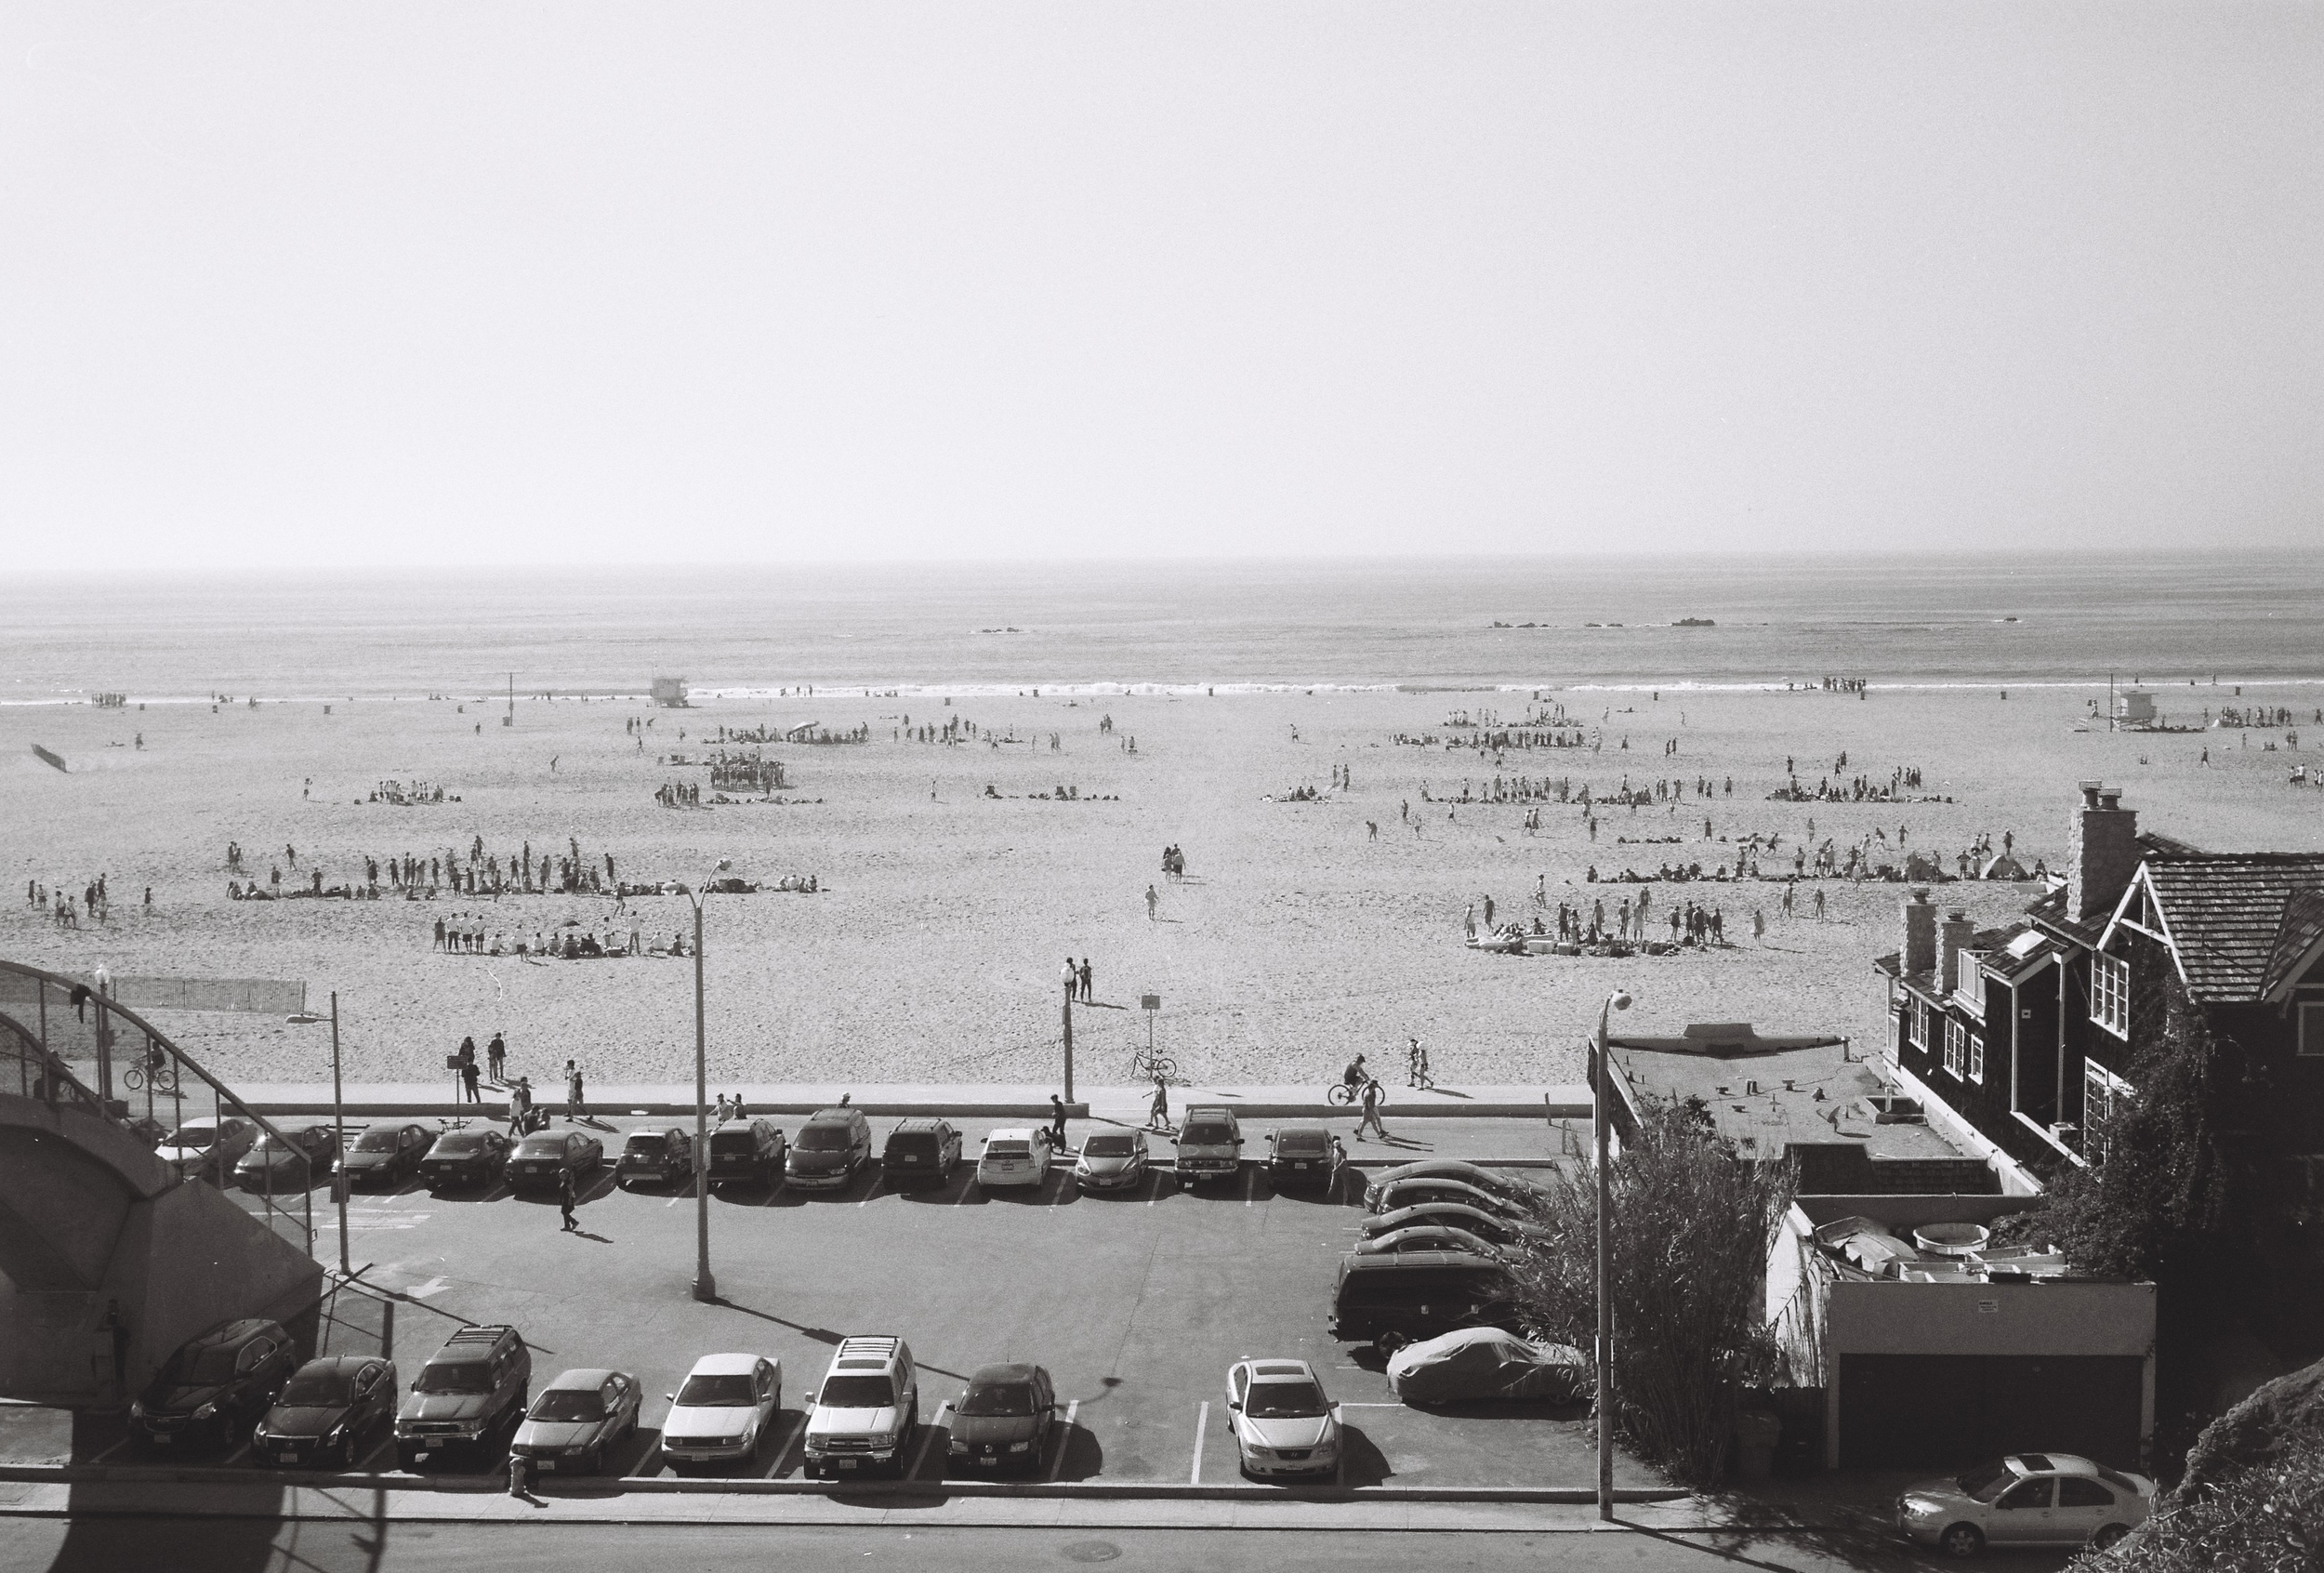
<path fill-rule="evenodd" d="M 1701 1099 L 1720 1134 L 1757 1157 L 1834 1141 L 1871 1157 L 1968 1157 L 1913 1120 L 1910 1101 L 1899 1099 L 1868 1057 L 1850 1057 L 1845 1039 L 1762 1036 L 1741 1022 L 1701 1022 L 1676 1036 L 1629 1034 L 1606 1043 L 1631 1087 Z"/>

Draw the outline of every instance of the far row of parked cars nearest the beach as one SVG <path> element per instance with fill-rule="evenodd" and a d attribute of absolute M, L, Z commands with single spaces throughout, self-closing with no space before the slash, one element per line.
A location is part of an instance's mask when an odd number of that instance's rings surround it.
<path fill-rule="evenodd" d="M 1243 1164 L 1243 1129 L 1229 1108 L 1190 1108 L 1167 1157 L 1141 1129 L 1088 1132 L 1078 1152 L 1050 1139 L 1048 1127 L 990 1132 L 976 1152 L 976 1183 L 988 1190 L 1041 1187 L 1071 1166 L 1085 1192 L 1136 1190 L 1153 1173 L 1185 1185 L 1232 1180 Z M 1264 1169 L 1276 1190 L 1329 1190 L 1348 1162 L 1322 1125 L 1285 1125 L 1264 1136 Z M 256 1122 L 221 1115 L 188 1120 L 170 1132 L 158 1157 L 181 1176 L 246 1190 L 304 1190 L 311 1178 L 344 1173 L 351 1185 L 393 1187 L 421 1178 L 432 1190 L 507 1180 L 516 1190 L 553 1190 L 565 1173 L 593 1178 L 604 1164 L 604 1141 L 588 1129 L 537 1129 L 511 1139 L 490 1125 L 439 1129 L 421 1120 L 372 1125 L 342 1152 L 328 1120 L 288 1125 L 263 1136 Z M 897 1120 L 878 1148 L 890 1185 L 946 1183 L 964 1157 L 960 1127 L 941 1118 Z M 823 1108 L 797 1139 L 774 1120 L 734 1120 L 709 1134 L 702 1155 L 711 1185 L 790 1185 L 846 1190 L 874 1162 L 871 1122 L 860 1108 Z M 621 1185 L 679 1185 L 697 1171 L 695 1136 L 681 1125 L 630 1132 L 614 1155 Z"/>

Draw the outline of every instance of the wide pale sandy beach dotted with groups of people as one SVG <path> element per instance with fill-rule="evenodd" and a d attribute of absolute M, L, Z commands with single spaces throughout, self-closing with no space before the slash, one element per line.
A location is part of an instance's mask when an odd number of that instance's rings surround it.
<path fill-rule="evenodd" d="M 2166 713 L 2222 699 L 2219 690 L 2161 692 Z M 1525 711 L 1525 695 L 1236 695 L 711 702 L 660 711 L 639 753 L 623 723 L 641 699 L 521 699 L 502 727 L 497 702 L 365 699 L 335 704 L 0 709 L 0 862 L 14 890 L 0 902 L 0 955 L 65 971 L 98 964 L 119 976 L 302 978 L 314 1008 L 339 992 L 353 1080 L 421 1080 L 462 1034 L 495 1029 L 511 1071 L 535 1080 L 567 1055 L 600 1083 L 681 1080 L 693 1050 L 693 964 L 683 960 L 555 962 L 514 955 L 449 957 L 430 948 L 437 915 L 481 906 L 516 934 L 567 918 L 611 922 L 611 899 L 467 897 L 437 902 L 225 899 L 225 843 L 242 841 L 260 878 L 300 850 L 297 878 L 360 876 L 360 855 L 465 848 L 535 853 L 576 836 L 590 857 L 611 850 L 623 878 L 695 878 L 718 857 L 748 878 L 816 874 L 823 892 L 709 899 L 709 1055 L 713 1083 L 832 1083 L 862 1078 L 1034 1083 L 1055 1076 L 1057 964 L 1088 955 L 1104 1008 L 1076 1011 L 1083 1080 L 1129 1080 L 1146 1034 L 1139 994 L 1162 997 L 1160 1043 L 1190 1076 L 1225 1083 L 1322 1083 L 1353 1053 L 1401 1066 L 1422 1036 L 1436 1076 L 1459 1083 L 1571 1083 L 1597 1001 L 1629 987 L 1627 1027 L 1678 1029 L 1690 1020 L 1752 1020 L 1766 1029 L 1875 1036 L 1882 990 L 1871 957 L 1896 946 L 1899 885 L 1827 883 L 1829 920 L 1808 906 L 1780 920 L 1780 888 L 1655 885 L 1657 915 L 1703 899 L 1727 915 L 1729 950 L 1710 955 L 1566 960 L 1501 957 L 1462 946 L 1462 913 L 1483 895 L 1529 915 L 1536 874 L 1550 902 L 1587 904 L 1587 864 L 1641 869 L 1685 855 L 1731 860 L 1701 841 L 1708 809 L 1720 836 L 1780 832 L 1794 846 L 1813 816 L 1843 846 L 1871 825 L 1948 857 L 1978 832 L 2017 834 L 2020 853 L 2059 862 L 2073 783 L 2103 776 L 2126 788 L 2143 825 L 2212 848 L 2312 850 L 2324 846 L 2324 795 L 2284 785 L 2312 755 L 2261 753 L 2236 732 L 2182 737 L 2078 732 L 2089 690 L 1878 690 L 1868 699 L 1824 692 L 1587 692 L 1569 709 L 1604 725 L 1606 748 L 1511 753 L 1504 774 L 1571 776 L 1594 792 L 1655 776 L 1734 776 L 1734 795 L 1687 797 L 1676 813 L 1611 811 L 1590 843 L 1578 809 L 1550 804 L 1538 834 L 1518 806 L 1466 806 L 1448 818 L 1432 795 L 1490 778 L 1476 753 L 1394 746 L 1397 732 L 1441 730 L 1448 711 L 1492 704 Z M 2266 688 L 2254 702 L 2305 716 L 2324 690 Z M 1604 716 L 1604 711 L 1613 711 Z M 1062 753 L 890 741 L 913 723 L 964 716 L 992 732 L 1062 734 Z M 1097 732 L 1113 716 L 1116 734 Z M 658 764 L 700 750 L 718 723 L 751 727 L 816 720 L 871 723 L 867 746 L 776 746 L 813 804 L 662 809 L 653 788 L 704 781 L 702 769 Z M 481 732 L 476 725 L 481 723 Z M 688 741 L 679 741 L 679 727 Z M 1297 741 L 1292 739 L 1297 727 Z M 125 744 L 144 732 L 142 753 Z M 1120 750 L 1136 737 L 1139 753 Z M 1618 744 L 1629 737 L 1629 750 Z M 1662 755 L 1664 739 L 1678 755 Z M 2275 734 L 2271 734 L 2275 737 Z M 33 757 L 44 744 L 72 762 L 58 774 Z M 112 746 L 123 744 L 123 746 Z M 2196 764 L 2201 748 L 2212 767 Z M 1887 778 L 1924 769 L 1924 790 L 1957 804 L 1776 804 L 1785 755 L 1808 781 L 1838 750 L 1850 774 Z M 558 757 L 551 771 L 548 760 Z M 1267 792 L 1329 783 L 1353 769 L 1353 790 L 1327 802 L 1262 802 Z M 314 778 L 311 799 L 300 797 Z M 462 802 L 397 809 L 360 802 L 379 778 L 428 778 Z M 985 783 L 1011 795 L 983 797 Z M 1076 785 L 1083 799 L 1027 795 Z M 934 788 L 937 797 L 930 799 Z M 1420 816 L 1415 836 L 1399 802 Z M 1367 836 L 1367 820 L 1380 839 Z M 1615 834 L 1683 834 L 1683 846 L 1613 846 Z M 1185 846 L 1190 878 L 1160 874 L 1164 843 Z M 23 902 L 23 883 L 79 890 L 105 874 L 114 922 L 58 932 Z M 284 869 L 286 881 L 293 878 Z M 1143 890 L 1162 892 L 1148 922 Z M 153 913 L 137 906 L 153 888 Z M 1627 888 L 1608 890 L 1608 913 Z M 1806 895 L 1806 890 L 1803 890 Z M 1980 922 L 2013 913 L 2027 885 L 1945 885 L 1938 899 Z M 1769 915 L 1752 943 L 1750 913 Z M 632 902 L 648 934 L 690 922 L 679 897 Z M 1666 929 L 1657 929 L 1666 934 Z M 163 1013 L 165 1029 L 216 1071 L 244 1080 L 328 1076 L 323 1027 L 279 1018 Z"/>

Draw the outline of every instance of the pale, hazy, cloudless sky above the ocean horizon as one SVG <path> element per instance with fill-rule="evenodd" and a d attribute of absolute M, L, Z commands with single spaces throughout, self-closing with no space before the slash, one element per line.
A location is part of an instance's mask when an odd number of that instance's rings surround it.
<path fill-rule="evenodd" d="M 2324 541 L 2315 5 L 0 7 L 0 574 Z"/>

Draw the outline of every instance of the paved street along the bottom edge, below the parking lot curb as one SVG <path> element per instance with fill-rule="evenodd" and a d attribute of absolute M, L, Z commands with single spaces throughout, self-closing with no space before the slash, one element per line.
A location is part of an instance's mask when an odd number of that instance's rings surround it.
<path fill-rule="evenodd" d="M 2064 1557 L 2010 1554 L 1996 1573 L 2054 1573 Z M 1148 1573 L 1264 1568 L 1469 1568 L 1541 1573 L 1908 1573 L 1950 1566 L 1864 1536 L 1399 1534 L 1269 1529 L 697 1529 L 374 1527 L 216 1520 L 0 1520 L 0 1573 L 634 1573 L 637 1568 L 890 1568 Z"/>

